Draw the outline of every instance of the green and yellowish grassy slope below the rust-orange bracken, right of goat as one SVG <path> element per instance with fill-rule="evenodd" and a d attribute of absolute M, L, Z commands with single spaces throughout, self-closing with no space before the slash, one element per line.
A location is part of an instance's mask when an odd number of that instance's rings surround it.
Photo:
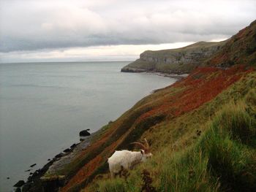
<path fill-rule="evenodd" d="M 94 181 L 86 191 L 254 191 L 255 75 L 246 74 L 197 110 L 153 126 L 143 134 L 153 145 L 150 161 L 127 178 Z"/>

